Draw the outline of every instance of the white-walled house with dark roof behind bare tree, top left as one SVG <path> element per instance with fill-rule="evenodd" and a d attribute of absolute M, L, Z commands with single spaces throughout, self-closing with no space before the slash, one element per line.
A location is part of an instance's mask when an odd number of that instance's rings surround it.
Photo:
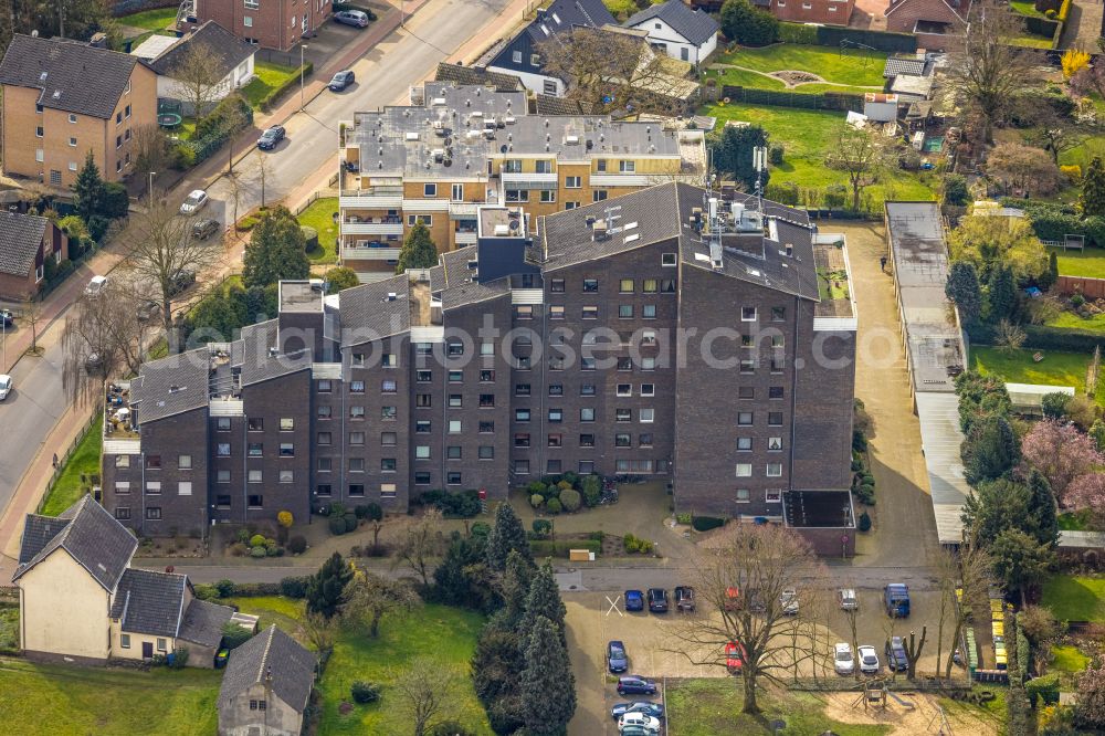
<path fill-rule="evenodd" d="M 193 93 L 177 73 L 197 49 L 214 60 L 219 76 L 218 84 L 208 92 L 207 103 L 213 105 L 253 78 L 257 48 L 214 21 L 203 23 L 181 39 L 151 35 L 130 52 L 157 72 L 157 96 L 181 102 L 186 115 L 192 114 Z"/>

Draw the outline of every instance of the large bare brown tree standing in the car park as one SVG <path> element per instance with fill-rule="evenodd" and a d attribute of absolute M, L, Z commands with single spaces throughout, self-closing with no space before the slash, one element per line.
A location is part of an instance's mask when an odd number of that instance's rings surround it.
<path fill-rule="evenodd" d="M 798 617 L 815 614 L 822 596 L 809 580 L 824 576 L 809 545 L 782 526 L 733 524 L 705 544 L 709 547 L 693 565 L 695 592 L 716 613 L 681 619 L 672 630 L 676 645 L 669 651 L 694 664 L 725 666 L 725 646 L 735 643 L 744 650 L 743 709 L 755 714 L 760 681 L 779 683 L 778 673 L 798 665 L 786 635 L 792 621 L 782 591 L 796 590 Z"/>

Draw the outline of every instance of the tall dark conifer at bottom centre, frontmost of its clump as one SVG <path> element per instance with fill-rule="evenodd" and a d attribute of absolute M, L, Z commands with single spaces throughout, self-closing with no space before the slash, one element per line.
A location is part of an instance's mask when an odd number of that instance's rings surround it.
<path fill-rule="evenodd" d="M 576 714 L 576 677 L 558 627 L 538 617 L 525 655 L 519 685 L 526 728 L 533 736 L 562 734 Z"/>

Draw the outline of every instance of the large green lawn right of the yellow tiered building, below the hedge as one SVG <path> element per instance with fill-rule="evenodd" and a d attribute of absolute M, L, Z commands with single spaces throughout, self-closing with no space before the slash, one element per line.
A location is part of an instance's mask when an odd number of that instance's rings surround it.
<path fill-rule="evenodd" d="M 842 171 L 827 169 L 824 165 L 825 151 L 838 126 L 844 122 L 844 113 L 732 103 L 707 105 L 698 112 L 717 117 L 718 126 L 725 120 L 761 125 L 772 144 L 782 144 L 783 161 L 771 166 L 771 181 L 775 183 L 789 181 L 809 189 L 846 182 Z M 935 199 L 937 183 L 938 179 L 932 172 L 893 169 L 885 171 L 866 192 L 870 192 L 873 207 L 877 209 L 885 199 Z"/>

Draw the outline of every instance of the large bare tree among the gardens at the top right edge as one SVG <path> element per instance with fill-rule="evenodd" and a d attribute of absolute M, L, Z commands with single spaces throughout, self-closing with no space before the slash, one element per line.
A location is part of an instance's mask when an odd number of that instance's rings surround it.
<path fill-rule="evenodd" d="M 993 137 L 1032 78 L 1031 61 L 1012 44 L 1023 22 L 998 0 L 972 3 L 964 46 L 953 55 L 949 78 L 969 111 L 981 118 L 981 143 Z"/>

